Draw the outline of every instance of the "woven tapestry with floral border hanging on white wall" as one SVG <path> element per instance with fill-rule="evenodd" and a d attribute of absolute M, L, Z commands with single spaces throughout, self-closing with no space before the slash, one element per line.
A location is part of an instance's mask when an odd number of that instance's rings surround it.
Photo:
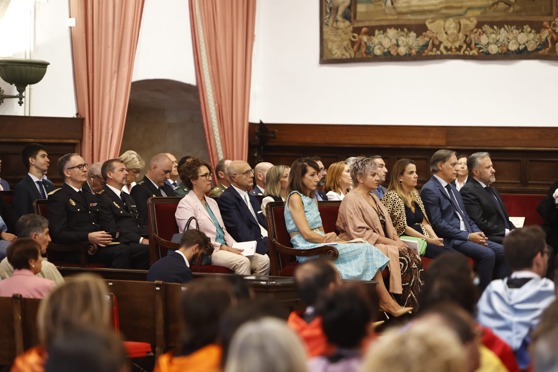
<path fill-rule="evenodd" d="M 320 63 L 558 60 L 558 0 L 319 0 Z"/>

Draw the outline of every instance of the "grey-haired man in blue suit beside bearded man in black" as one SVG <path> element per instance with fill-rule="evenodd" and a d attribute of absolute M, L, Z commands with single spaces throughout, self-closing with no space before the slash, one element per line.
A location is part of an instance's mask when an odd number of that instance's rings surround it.
<path fill-rule="evenodd" d="M 511 274 L 504 260 L 501 244 L 489 241 L 469 218 L 461 195 L 453 181 L 457 177 L 457 157 L 451 150 L 439 150 L 430 159 L 432 178 L 422 187 L 420 196 L 435 233 L 444 238 L 444 246 L 453 248 L 477 261 L 482 288 L 496 278 Z"/>

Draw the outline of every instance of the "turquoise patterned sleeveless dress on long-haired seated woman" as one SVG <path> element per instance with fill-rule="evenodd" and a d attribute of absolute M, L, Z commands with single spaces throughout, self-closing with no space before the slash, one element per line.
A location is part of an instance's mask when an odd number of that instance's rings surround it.
<path fill-rule="evenodd" d="M 298 191 L 293 191 L 287 196 L 285 203 L 285 223 L 287 225 L 288 233 L 298 231 L 295 221 L 292 219 L 291 211 L 288 209 L 288 198 L 297 193 L 302 198 L 304 204 L 304 213 L 310 229 L 318 229 L 321 223 L 320 212 L 316 201 L 300 194 Z M 320 235 L 324 235 L 321 231 L 316 231 Z M 310 249 L 320 247 L 320 244 L 311 243 L 302 238 L 302 234 L 295 235 L 291 238 L 292 247 L 296 249 Z M 339 257 L 334 260 L 335 266 L 341 275 L 341 279 L 360 279 L 369 281 L 378 272 L 386 268 L 389 258 L 371 244 L 366 243 L 349 243 L 349 244 L 336 244 L 335 247 L 339 250 Z M 300 263 L 318 256 L 304 257 L 297 256 L 296 260 Z"/>

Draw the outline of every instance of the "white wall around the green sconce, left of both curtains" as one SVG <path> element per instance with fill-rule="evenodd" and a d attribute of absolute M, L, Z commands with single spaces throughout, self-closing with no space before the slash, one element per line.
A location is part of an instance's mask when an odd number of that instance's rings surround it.
<path fill-rule="evenodd" d="M 6 99 L 0 105 L 0 115 L 72 117 L 78 112 L 68 18 L 68 0 L 36 2 L 34 11 L 28 12 L 28 17 L 22 19 L 21 33 L 9 34 L 18 37 L 18 47 L 8 57 L 45 60 L 50 65 L 45 77 L 28 87 L 23 106 L 17 104 L 17 99 Z M 14 86 L 2 80 L 0 88 L 5 94 L 17 94 Z"/>

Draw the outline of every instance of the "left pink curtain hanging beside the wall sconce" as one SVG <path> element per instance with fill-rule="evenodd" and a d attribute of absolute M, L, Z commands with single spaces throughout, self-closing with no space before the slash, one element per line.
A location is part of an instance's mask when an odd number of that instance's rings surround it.
<path fill-rule="evenodd" d="M 85 118 L 81 156 L 118 157 L 132 84 L 144 0 L 70 0 L 78 111 Z"/>

